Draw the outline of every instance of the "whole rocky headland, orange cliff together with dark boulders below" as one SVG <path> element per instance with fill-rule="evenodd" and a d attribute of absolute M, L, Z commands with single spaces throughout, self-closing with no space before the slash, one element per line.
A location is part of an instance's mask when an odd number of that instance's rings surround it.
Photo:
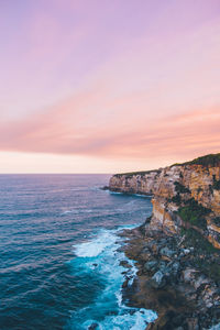
<path fill-rule="evenodd" d="M 138 277 L 124 299 L 154 309 L 147 329 L 210 329 L 220 322 L 220 154 L 157 170 L 118 174 L 109 189 L 152 195 L 153 212 L 122 233 Z M 219 327 L 220 328 L 220 327 Z"/>

